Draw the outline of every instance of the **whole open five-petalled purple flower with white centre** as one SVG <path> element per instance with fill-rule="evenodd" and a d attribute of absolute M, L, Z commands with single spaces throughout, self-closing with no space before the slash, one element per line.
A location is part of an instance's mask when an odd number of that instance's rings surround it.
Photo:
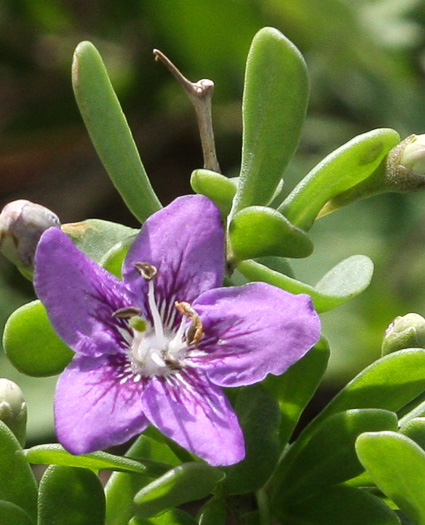
<path fill-rule="evenodd" d="M 218 288 L 224 232 L 216 206 L 181 197 L 143 225 L 119 280 L 57 228 L 36 254 L 35 288 L 75 351 L 55 396 L 56 432 L 72 453 L 157 427 L 211 465 L 245 455 L 220 387 L 279 375 L 319 339 L 306 295 L 264 283 Z"/>

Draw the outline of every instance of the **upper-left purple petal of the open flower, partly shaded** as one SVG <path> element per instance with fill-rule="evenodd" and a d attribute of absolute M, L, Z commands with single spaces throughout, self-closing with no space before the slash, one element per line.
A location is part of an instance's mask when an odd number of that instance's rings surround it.
<path fill-rule="evenodd" d="M 130 294 L 58 228 L 47 230 L 38 244 L 34 286 L 54 329 L 75 352 L 117 351 L 122 336 L 112 313 L 131 304 Z"/>

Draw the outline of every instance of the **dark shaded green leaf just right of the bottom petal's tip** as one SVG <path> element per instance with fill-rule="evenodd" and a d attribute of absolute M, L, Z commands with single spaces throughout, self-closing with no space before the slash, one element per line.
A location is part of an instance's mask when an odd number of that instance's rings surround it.
<path fill-rule="evenodd" d="M 255 492 L 268 480 L 279 457 L 280 411 L 260 385 L 241 389 L 235 411 L 245 437 L 246 456 L 228 468 L 222 487 L 228 494 Z"/>

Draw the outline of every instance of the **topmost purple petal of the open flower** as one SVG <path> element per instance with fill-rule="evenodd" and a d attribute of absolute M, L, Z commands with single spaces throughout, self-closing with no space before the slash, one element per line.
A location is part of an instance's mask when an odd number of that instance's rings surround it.
<path fill-rule="evenodd" d="M 137 297 L 145 298 L 147 285 L 134 268 L 136 262 L 157 268 L 156 296 L 169 308 L 176 300 L 192 302 L 221 286 L 224 231 L 215 204 L 202 195 L 187 195 L 144 223 L 124 262 L 123 278 Z"/>

